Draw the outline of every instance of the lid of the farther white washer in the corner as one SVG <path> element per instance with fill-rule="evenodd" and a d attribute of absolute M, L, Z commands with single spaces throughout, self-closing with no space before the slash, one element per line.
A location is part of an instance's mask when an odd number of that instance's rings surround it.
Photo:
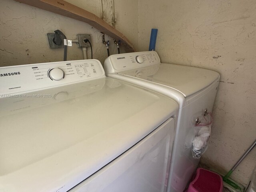
<path fill-rule="evenodd" d="M 168 86 L 185 97 L 202 90 L 220 77 L 212 70 L 166 63 L 122 71 L 119 74 Z"/>

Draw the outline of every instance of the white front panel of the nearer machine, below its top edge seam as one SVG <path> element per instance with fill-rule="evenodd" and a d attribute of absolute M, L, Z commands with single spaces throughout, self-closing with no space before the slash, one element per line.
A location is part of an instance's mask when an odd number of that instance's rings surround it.
<path fill-rule="evenodd" d="M 173 138 L 170 118 L 70 192 L 165 192 Z"/>

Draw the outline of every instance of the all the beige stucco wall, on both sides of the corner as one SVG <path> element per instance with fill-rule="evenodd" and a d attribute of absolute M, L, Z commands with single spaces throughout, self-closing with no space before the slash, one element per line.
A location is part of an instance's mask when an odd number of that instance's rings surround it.
<path fill-rule="evenodd" d="M 99 0 L 68 0 L 100 16 Z M 111 24 L 111 1 L 103 0 Z M 162 62 L 198 66 L 221 74 L 214 125 L 202 163 L 222 172 L 238 160 L 256 136 L 255 0 L 115 0 L 116 28 L 139 51 L 148 50 L 150 30 L 158 28 L 156 51 Z M 63 49 L 50 49 L 46 34 L 62 30 L 68 39 L 92 35 L 94 58 L 104 62 L 106 48 L 90 25 L 13 0 L 0 1 L 0 66 L 61 61 Z M 116 53 L 112 38 L 110 54 Z M 90 57 L 90 51 L 88 51 Z M 82 59 L 74 44 L 68 60 Z M 246 183 L 256 150 L 233 177 Z"/>

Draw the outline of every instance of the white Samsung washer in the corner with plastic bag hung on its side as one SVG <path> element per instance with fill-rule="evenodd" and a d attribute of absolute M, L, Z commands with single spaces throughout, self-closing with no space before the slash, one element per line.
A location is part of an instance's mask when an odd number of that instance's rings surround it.
<path fill-rule="evenodd" d="M 212 111 L 220 75 L 161 63 L 154 51 L 112 55 L 105 60 L 104 70 L 109 77 L 159 92 L 179 104 L 168 192 L 182 192 L 200 160 L 192 155 L 195 124 Z"/>

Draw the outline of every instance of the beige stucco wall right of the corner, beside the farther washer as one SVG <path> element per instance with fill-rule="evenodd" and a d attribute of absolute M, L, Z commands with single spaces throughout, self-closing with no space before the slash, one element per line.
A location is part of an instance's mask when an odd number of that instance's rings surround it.
<path fill-rule="evenodd" d="M 256 1 L 139 0 L 140 51 L 158 28 L 162 62 L 220 73 L 214 125 L 201 162 L 227 172 L 256 138 Z M 246 183 L 256 149 L 232 176 Z"/>

